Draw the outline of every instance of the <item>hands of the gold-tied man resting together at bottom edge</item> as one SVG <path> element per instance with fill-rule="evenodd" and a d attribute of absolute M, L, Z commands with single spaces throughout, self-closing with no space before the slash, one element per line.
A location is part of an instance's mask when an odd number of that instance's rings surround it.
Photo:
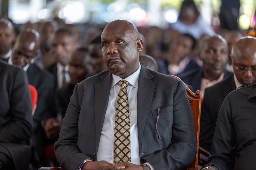
<path fill-rule="evenodd" d="M 82 170 L 110 170 L 110 169 L 126 169 L 126 170 L 142 170 L 142 166 L 132 163 L 109 163 L 105 160 L 87 162 Z"/>

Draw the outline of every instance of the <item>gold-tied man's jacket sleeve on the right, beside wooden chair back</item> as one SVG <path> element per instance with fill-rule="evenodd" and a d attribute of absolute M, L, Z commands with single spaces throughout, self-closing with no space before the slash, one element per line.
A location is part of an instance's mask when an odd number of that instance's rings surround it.
<path fill-rule="evenodd" d="M 173 124 L 170 133 L 172 138 L 168 148 L 143 158 L 155 169 L 185 168 L 197 153 L 193 113 L 182 81 L 173 96 Z"/>

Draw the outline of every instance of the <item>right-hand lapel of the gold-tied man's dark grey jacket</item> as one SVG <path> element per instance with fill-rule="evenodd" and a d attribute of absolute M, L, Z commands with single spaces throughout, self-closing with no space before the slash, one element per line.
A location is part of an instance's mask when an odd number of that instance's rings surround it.
<path fill-rule="evenodd" d="M 150 109 L 150 105 L 154 96 L 156 81 L 152 81 L 154 76 L 141 65 L 138 83 L 137 95 L 137 123 L 138 123 L 138 138 L 139 148 L 141 147 L 142 135 Z M 145 100 L 146 99 L 146 100 Z"/>

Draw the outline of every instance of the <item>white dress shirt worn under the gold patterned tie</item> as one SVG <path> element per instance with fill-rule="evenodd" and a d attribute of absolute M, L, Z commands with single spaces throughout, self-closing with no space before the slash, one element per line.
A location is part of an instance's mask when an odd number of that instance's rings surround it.
<path fill-rule="evenodd" d="M 137 126 L 137 92 L 138 82 L 141 66 L 139 69 L 125 78 L 129 82 L 126 87 L 129 102 L 129 116 L 130 116 L 130 137 L 131 137 L 131 163 L 140 165 L 139 154 L 139 140 L 138 140 L 138 126 Z M 119 90 L 121 86 L 117 83 L 122 78 L 112 74 L 112 86 L 109 95 L 108 107 L 100 135 L 99 148 L 97 153 L 97 161 L 105 160 L 109 163 L 114 162 L 114 128 L 116 117 L 116 103 Z M 146 162 L 147 165 L 154 168 Z"/>

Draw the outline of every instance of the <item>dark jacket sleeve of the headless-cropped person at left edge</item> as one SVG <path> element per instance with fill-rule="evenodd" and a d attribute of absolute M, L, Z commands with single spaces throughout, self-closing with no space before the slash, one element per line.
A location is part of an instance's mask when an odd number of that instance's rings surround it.
<path fill-rule="evenodd" d="M 32 135 L 32 106 L 26 72 L 18 69 L 12 82 L 10 111 L 12 121 L 0 129 L 0 142 L 17 142 Z"/>

